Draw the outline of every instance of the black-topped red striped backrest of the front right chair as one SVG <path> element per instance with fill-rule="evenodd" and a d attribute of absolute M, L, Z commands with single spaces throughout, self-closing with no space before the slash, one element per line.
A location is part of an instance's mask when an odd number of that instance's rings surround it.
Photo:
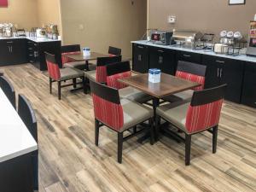
<path fill-rule="evenodd" d="M 207 130 L 218 125 L 227 84 L 195 91 L 186 117 L 189 133 Z"/>

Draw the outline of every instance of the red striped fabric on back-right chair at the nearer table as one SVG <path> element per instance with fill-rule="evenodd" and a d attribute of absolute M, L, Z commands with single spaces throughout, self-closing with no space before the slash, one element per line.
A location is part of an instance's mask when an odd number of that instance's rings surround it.
<path fill-rule="evenodd" d="M 193 90 L 203 90 L 205 87 L 206 79 L 203 76 L 177 71 L 176 77 L 201 84 L 201 86 L 195 87 Z"/>

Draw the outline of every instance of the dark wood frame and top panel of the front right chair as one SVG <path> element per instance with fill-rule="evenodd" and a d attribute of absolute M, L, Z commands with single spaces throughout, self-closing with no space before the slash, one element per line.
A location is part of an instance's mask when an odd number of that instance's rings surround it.
<path fill-rule="evenodd" d="M 190 105 L 192 107 L 195 107 L 195 106 L 200 106 L 200 105 L 204 105 L 207 103 L 216 102 L 218 100 L 224 99 L 224 92 L 226 90 L 226 87 L 227 87 L 227 84 L 222 84 L 212 89 L 195 91 L 194 95 L 192 96 Z M 164 119 L 166 120 L 166 122 L 168 122 L 167 119 L 160 117 L 159 115 L 156 115 L 156 119 L 155 119 L 156 135 L 158 135 L 160 131 L 160 119 Z M 216 154 L 217 143 L 218 143 L 218 125 L 215 125 L 213 127 L 208 127 L 205 130 L 197 131 L 191 134 L 186 133 L 185 131 L 183 131 L 183 129 L 179 128 L 176 125 L 172 125 L 172 126 L 177 128 L 178 131 L 183 132 L 185 134 L 185 138 L 183 139 L 183 142 L 185 143 L 185 165 L 186 166 L 190 165 L 191 140 L 192 140 L 192 136 L 195 134 L 201 133 L 203 131 L 208 131 L 212 133 L 212 154 Z M 179 137 L 179 138 L 182 138 L 182 137 Z"/>

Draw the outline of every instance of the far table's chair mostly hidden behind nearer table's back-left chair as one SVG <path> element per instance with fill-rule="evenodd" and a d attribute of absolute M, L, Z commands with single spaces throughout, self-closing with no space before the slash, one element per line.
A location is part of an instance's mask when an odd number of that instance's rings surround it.
<path fill-rule="evenodd" d="M 107 68 L 106 66 L 111 63 L 120 62 L 122 56 L 108 56 L 98 57 L 96 63 L 96 70 L 85 72 L 86 78 L 96 81 L 101 84 L 107 84 Z"/>

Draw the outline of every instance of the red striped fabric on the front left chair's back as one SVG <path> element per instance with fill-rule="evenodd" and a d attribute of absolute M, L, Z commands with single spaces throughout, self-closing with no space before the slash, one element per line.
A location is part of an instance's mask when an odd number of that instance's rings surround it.
<path fill-rule="evenodd" d="M 92 94 L 94 113 L 96 119 L 100 120 L 105 125 L 112 127 L 116 131 L 124 125 L 124 113 L 120 104 L 108 102 L 100 96 Z"/>

